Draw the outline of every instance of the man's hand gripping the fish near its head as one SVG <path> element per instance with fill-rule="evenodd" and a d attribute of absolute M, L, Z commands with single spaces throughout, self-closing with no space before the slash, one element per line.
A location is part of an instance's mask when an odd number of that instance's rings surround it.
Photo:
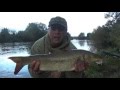
<path fill-rule="evenodd" d="M 89 64 L 87 62 L 77 60 L 77 62 L 75 63 L 75 71 L 76 72 L 84 71 L 88 66 Z"/>

